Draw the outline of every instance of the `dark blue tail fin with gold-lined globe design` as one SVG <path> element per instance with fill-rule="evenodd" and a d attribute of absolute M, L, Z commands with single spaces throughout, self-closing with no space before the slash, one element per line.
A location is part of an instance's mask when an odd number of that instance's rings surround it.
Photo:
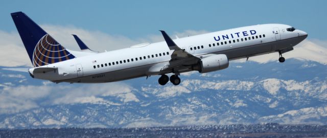
<path fill-rule="evenodd" d="M 11 13 L 34 67 L 75 58 L 25 13 Z"/>

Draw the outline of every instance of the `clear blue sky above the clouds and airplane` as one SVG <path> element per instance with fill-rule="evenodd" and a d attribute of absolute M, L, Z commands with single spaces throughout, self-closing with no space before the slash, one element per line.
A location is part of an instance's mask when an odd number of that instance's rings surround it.
<path fill-rule="evenodd" d="M 2 1 L 0 30 L 16 31 L 10 13 L 23 11 L 40 25 L 74 26 L 128 38 L 185 30 L 218 31 L 288 24 L 326 40 L 327 1 Z"/>

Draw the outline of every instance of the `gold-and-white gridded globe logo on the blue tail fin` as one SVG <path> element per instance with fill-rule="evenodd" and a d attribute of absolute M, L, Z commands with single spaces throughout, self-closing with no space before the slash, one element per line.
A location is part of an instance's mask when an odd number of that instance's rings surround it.
<path fill-rule="evenodd" d="M 45 34 L 36 44 L 33 52 L 33 66 L 42 66 L 75 58 L 49 34 Z"/>

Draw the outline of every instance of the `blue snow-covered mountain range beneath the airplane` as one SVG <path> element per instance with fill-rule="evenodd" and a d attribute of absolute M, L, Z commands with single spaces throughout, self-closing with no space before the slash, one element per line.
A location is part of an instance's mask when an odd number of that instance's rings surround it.
<path fill-rule="evenodd" d="M 0 70 L 0 128 L 326 125 L 326 53 L 305 41 L 285 63 L 273 54 L 232 61 L 226 70 L 182 74 L 179 86 L 160 86 L 159 76 L 55 84 Z"/>

